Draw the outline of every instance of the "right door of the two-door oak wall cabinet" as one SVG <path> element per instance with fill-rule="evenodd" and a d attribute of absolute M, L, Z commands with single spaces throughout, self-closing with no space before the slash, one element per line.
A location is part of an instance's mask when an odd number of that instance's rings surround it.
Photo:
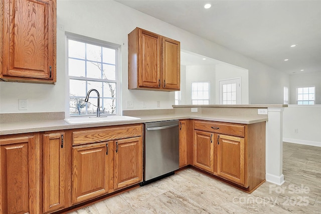
<path fill-rule="evenodd" d="M 180 42 L 163 37 L 163 88 L 180 90 Z"/>

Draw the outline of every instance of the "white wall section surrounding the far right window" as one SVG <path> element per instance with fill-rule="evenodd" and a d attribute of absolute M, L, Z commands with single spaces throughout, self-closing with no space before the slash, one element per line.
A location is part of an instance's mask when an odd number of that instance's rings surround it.
<path fill-rule="evenodd" d="M 315 104 L 321 104 L 321 72 L 290 75 L 290 104 L 296 104 L 296 88 L 315 86 Z"/>

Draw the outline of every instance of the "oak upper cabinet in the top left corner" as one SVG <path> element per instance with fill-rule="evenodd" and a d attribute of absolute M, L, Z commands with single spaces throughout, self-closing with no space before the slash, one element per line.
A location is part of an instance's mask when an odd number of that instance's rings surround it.
<path fill-rule="evenodd" d="M 56 0 L 4 0 L 0 78 L 56 82 Z"/>

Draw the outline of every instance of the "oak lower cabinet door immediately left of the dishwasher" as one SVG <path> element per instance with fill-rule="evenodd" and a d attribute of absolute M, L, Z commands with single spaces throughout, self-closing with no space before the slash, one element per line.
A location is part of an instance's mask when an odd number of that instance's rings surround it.
<path fill-rule="evenodd" d="M 115 140 L 114 149 L 114 189 L 141 182 L 142 137 Z"/>

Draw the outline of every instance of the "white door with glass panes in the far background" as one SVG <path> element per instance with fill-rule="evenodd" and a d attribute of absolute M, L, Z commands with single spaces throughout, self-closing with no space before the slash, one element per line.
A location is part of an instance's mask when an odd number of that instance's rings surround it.
<path fill-rule="evenodd" d="M 219 81 L 220 105 L 241 104 L 241 78 Z"/>

